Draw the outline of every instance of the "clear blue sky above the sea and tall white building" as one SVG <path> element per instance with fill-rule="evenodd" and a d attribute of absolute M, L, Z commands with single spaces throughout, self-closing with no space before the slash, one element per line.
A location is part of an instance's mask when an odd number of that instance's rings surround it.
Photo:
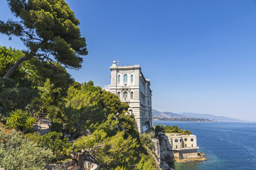
<path fill-rule="evenodd" d="M 256 1 L 67 0 L 89 55 L 76 81 L 110 84 L 113 60 L 140 64 L 153 108 L 256 121 Z M 0 1 L 0 19 L 13 18 Z M 0 35 L 0 45 L 23 49 Z"/>

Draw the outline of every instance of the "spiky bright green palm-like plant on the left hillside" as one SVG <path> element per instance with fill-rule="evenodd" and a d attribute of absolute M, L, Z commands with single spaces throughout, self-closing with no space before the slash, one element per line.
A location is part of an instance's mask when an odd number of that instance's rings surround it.
<path fill-rule="evenodd" d="M 6 120 L 6 125 L 8 125 L 9 128 L 22 130 L 23 132 L 31 130 L 33 125 L 36 124 L 36 119 L 24 113 L 21 109 L 12 111 Z"/>

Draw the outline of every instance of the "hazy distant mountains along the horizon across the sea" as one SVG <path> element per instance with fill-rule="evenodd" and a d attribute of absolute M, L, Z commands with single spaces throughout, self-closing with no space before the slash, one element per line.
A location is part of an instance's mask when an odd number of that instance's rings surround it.
<path fill-rule="evenodd" d="M 210 114 L 200 114 L 200 113 L 172 113 L 172 112 L 159 112 L 152 109 L 153 118 L 200 118 L 213 121 L 242 121 L 235 118 L 228 118 L 225 116 L 210 115 Z"/>

